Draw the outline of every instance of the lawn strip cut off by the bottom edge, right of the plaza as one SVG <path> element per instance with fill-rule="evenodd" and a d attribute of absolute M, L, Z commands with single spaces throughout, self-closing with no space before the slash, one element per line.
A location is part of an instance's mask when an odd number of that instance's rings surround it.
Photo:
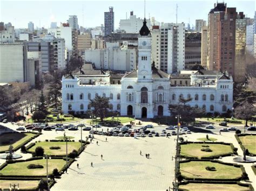
<path fill-rule="evenodd" d="M 187 190 L 250 190 L 248 187 L 239 186 L 235 184 L 220 184 L 220 183 L 188 183 L 187 185 L 180 185 L 180 189 L 187 189 Z"/>

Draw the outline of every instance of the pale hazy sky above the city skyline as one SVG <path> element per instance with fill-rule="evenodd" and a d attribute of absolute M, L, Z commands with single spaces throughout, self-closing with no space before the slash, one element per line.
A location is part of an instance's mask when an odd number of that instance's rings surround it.
<path fill-rule="evenodd" d="M 219 2 L 223 2 L 219 0 Z M 178 4 L 178 23 L 195 25 L 196 19 L 207 20 L 208 12 L 216 1 L 152 1 L 146 0 L 146 18 L 154 17 L 158 22 L 176 23 L 176 4 Z M 236 7 L 247 17 L 254 17 L 255 1 L 225 1 L 228 7 Z M 21 1 L 0 0 L 0 22 L 11 22 L 15 28 L 27 28 L 29 22 L 48 28 L 51 22 L 65 23 L 69 15 L 77 15 L 79 26 L 95 27 L 104 24 L 104 12 L 114 10 L 114 28 L 118 29 L 119 20 L 133 15 L 144 18 L 144 0 L 115 1 Z"/>

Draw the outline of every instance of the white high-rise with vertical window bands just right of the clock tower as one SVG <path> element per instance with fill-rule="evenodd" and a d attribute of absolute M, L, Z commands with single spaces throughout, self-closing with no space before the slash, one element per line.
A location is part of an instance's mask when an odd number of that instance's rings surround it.
<path fill-rule="evenodd" d="M 152 30 L 154 31 L 154 30 Z M 172 74 L 185 68 L 185 25 L 184 23 L 164 23 L 160 26 L 160 34 L 152 36 L 152 52 L 160 50 L 157 58 L 160 60 L 160 70 Z M 159 47 L 158 47 L 159 46 Z M 153 49 L 154 48 L 154 49 Z M 155 61 L 156 62 L 156 61 Z"/>

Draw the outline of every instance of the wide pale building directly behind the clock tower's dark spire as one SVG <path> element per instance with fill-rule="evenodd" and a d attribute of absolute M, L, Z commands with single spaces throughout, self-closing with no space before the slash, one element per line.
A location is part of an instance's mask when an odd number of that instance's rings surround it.
<path fill-rule="evenodd" d="M 147 19 L 146 22 L 147 26 L 151 28 L 150 19 Z M 131 11 L 129 19 L 120 19 L 119 28 L 120 30 L 124 30 L 126 33 L 139 33 L 142 23 L 143 19 L 136 18 L 136 15 L 133 15 L 133 11 Z"/>

